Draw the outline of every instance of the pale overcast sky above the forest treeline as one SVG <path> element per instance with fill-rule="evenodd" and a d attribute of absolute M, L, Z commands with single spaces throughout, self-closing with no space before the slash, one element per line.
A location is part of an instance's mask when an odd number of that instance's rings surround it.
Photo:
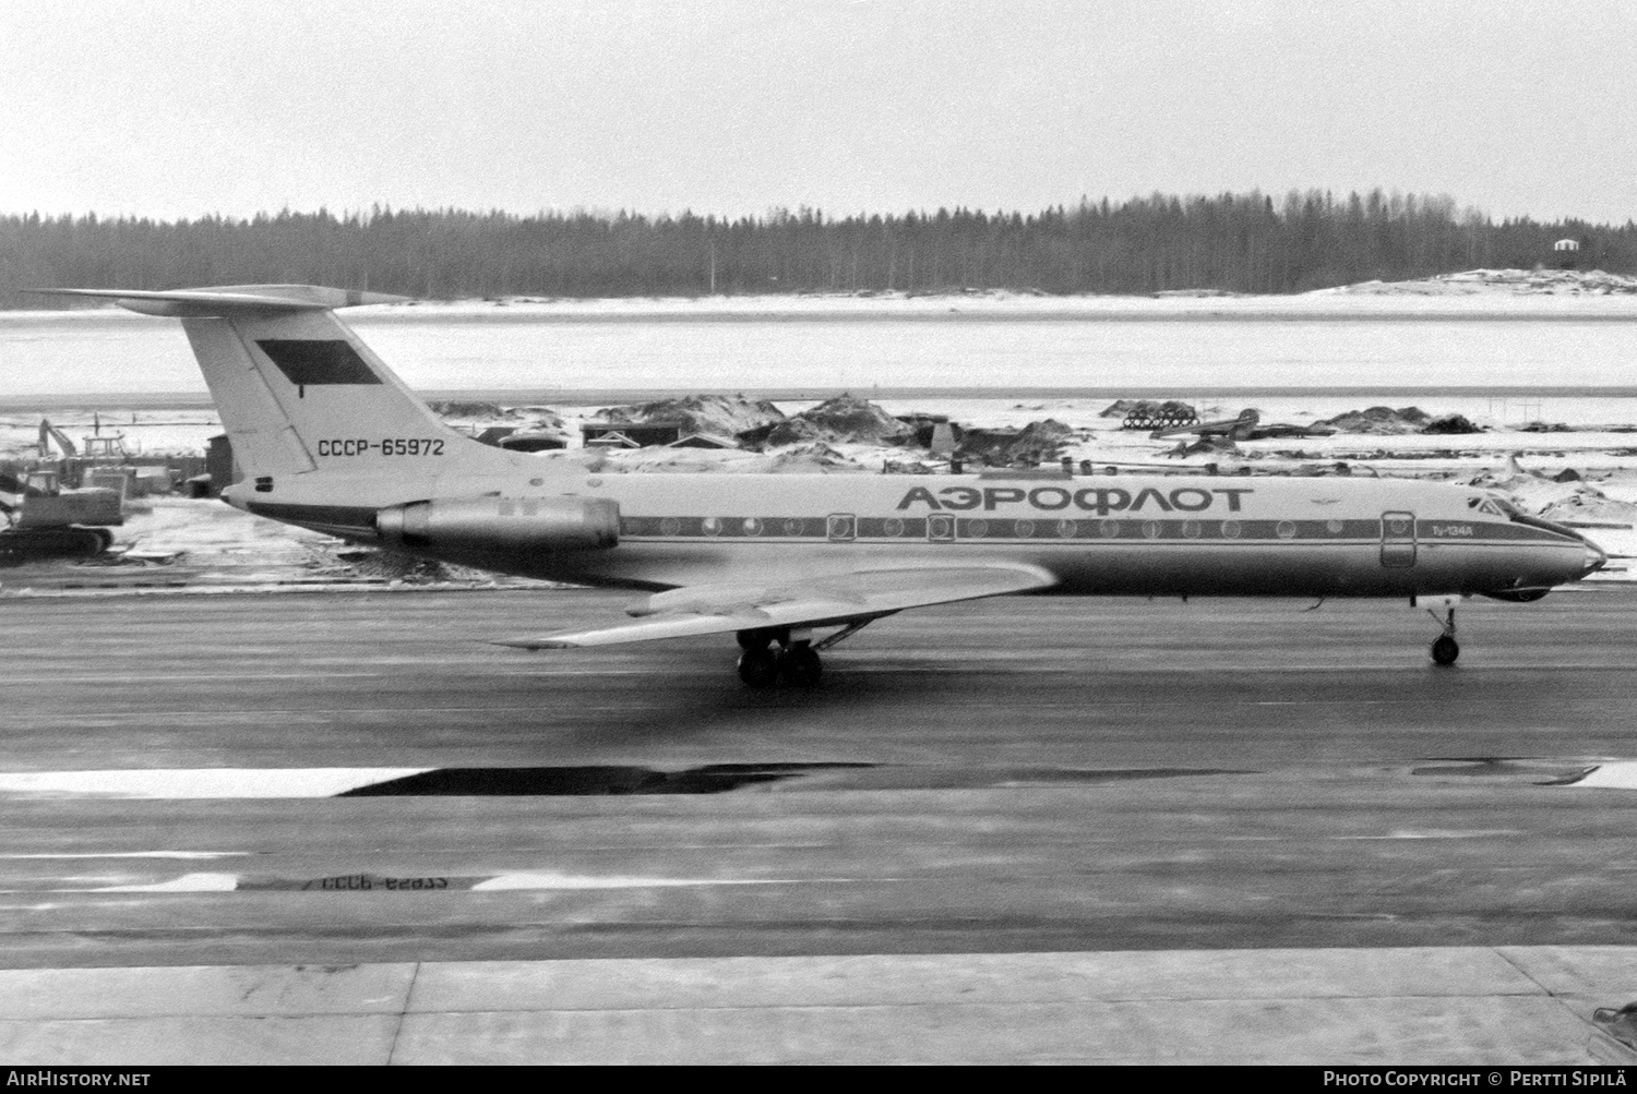
<path fill-rule="evenodd" d="M 0 213 L 1637 217 L 1637 3 L 0 0 Z"/>

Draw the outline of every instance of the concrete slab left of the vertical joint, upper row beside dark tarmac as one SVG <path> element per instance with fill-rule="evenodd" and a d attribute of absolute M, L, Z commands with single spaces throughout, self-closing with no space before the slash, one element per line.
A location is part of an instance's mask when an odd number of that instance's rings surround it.
<path fill-rule="evenodd" d="M 0 970 L 0 1020 L 403 1014 L 413 963 Z M 15 1060 L 23 1056 L 13 1056 Z"/>

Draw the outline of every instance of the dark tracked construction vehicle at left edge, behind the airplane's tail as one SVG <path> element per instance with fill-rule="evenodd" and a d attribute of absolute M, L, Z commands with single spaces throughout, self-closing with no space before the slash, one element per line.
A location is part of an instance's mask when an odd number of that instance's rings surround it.
<path fill-rule="evenodd" d="M 0 473 L 0 563 L 88 558 L 113 546 L 111 525 L 124 523 L 121 491 L 72 491 L 61 471 Z"/>

